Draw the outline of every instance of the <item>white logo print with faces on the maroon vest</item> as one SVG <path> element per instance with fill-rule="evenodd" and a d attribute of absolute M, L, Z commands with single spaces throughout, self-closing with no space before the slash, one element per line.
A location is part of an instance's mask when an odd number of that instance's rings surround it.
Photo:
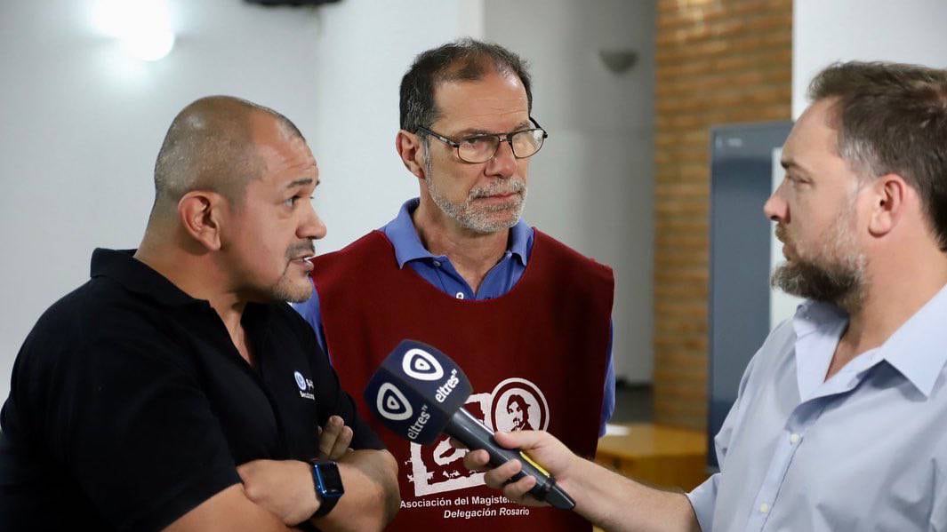
<path fill-rule="evenodd" d="M 491 392 L 472 395 L 464 408 L 492 431 L 545 431 L 549 426 L 549 405 L 543 391 L 519 377 L 501 381 Z M 483 473 L 463 466 L 467 452 L 451 446 L 446 435 L 433 445 L 409 446 L 407 467 L 399 474 L 407 475 L 416 497 L 483 486 Z"/>

